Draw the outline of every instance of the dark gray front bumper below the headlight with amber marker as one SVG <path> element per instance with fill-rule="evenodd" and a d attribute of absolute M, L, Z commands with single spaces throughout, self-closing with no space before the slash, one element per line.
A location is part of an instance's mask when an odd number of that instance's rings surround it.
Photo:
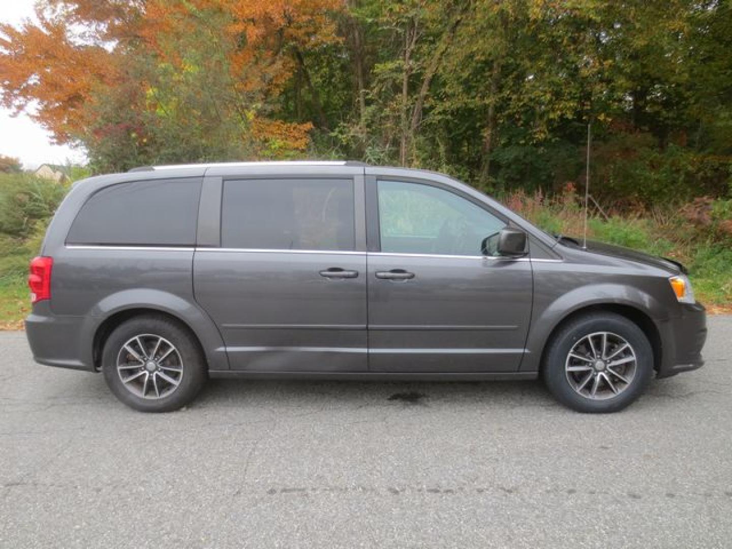
<path fill-rule="evenodd" d="M 681 315 L 668 321 L 661 335 L 662 363 L 659 378 L 696 370 L 704 365 L 701 350 L 706 342 L 706 310 L 701 303 L 682 305 Z"/>

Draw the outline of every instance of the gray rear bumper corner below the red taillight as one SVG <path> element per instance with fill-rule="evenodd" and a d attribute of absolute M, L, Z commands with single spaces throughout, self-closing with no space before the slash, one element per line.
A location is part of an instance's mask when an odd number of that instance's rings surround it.
<path fill-rule="evenodd" d="M 94 365 L 79 359 L 83 316 L 53 315 L 48 306 L 38 303 L 26 318 L 26 337 L 39 364 L 94 371 Z"/>

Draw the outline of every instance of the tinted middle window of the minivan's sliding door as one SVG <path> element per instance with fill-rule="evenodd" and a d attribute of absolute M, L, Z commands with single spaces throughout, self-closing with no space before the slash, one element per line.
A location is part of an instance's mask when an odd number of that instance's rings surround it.
<path fill-rule="evenodd" d="M 257 250 L 354 250 L 349 179 L 224 183 L 221 245 Z"/>

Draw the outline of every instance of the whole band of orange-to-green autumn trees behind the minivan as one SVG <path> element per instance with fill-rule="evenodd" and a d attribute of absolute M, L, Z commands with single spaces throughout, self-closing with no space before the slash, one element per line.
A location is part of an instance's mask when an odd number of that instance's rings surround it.
<path fill-rule="evenodd" d="M 349 157 L 622 203 L 725 193 L 720 0 L 40 0 L 0 100 L 97 171 Z"/>

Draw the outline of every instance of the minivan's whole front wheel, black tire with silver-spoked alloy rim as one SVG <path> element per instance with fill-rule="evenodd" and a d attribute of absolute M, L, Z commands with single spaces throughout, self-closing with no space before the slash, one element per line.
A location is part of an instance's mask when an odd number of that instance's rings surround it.
<path fill-rule="evenodd" d="M 611 356 L 610 353 L 605 355 L 604 350 L 596 353 L 599 360 L 588 359 L 593 356 L 592 353 L 596 347 L 602 346 L 603 341 L 607 341 L 602 340 L 602 335 L 597 335 L 602 332 L 609 332 L 610 343 L 607 345 L 613 352 L 622 347 L 621 340 L 630 346 L 630 350 L 626 348 L 625 351 L 622 351 L 624 355 L 621 356 L 624 358 L 615 359 L 615 361 L 621 362 L 630 357 L 624 366 L 633 368 L 632 376 L 625 372 L 623 372 L 623 377 L 618 376 L 616 371 L 619 371 L 621 366 L 615 366 L 615 362 L 612 360 L 602 360 L 604 356 Z M 590 335 L 593 336 L 589 337 Z M 613 347 L 613 340 L 615 347 Z M 580 349 L 589 349 L 589 351 L 584 354 Z M 569 359 L 570 351 L 573 351 L 572 356 L 581 354 L 582 357 Z M 635 362 L 632 361 L 632 357 L 635 357 Z M 620 411 L 640 397 L 653 376 L 653 364 L 651 343 L 637 324 L 615 313 L 590 313 L 572 319 L 553 335 L 548 343 L 542 371 L 548 389 L 564 406 L 579 412 L 603 414 Z M 612 368 L 607 365 L 612 365 Z M 568 366 L 569 369 L 575 368 L 583 371 L 569 372 L 567 371 Z M 620 379 L 627 379 L 629 382 L 619 381 L 616 376 Z M 593 397 L 586 393 L 591 392 L 597 377 L 600 380 L 597 382 L 596 396 Z M 610 384 L 608 384 L 608 378 L 612 380 Z M 583 386 L 583 382 L 590 385 Z M 602 387 L 602 393 L 600 393 L 600 387 Z"/>

